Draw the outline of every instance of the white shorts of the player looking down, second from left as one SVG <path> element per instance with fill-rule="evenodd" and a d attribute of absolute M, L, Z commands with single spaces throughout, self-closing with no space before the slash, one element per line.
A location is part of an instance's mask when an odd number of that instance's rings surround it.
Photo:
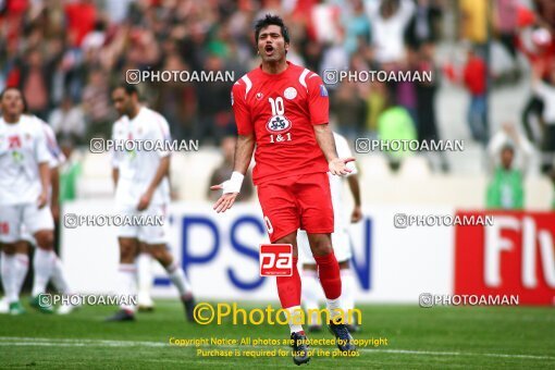
<path fill-rule="evenodd" d="M 144 211 L 138 211 L 136 206 L 122 206 L 118 208 L 118 214 L 128 217 L 143 217 L 152 220 L 162 217 L 164 222 L 148 225 L 121 225 L 118 227 L 119 237 L 133 237 L 145 244 L 166 244 L 168 232 L 165 230 L 165 205 L 150 205 Z"/>

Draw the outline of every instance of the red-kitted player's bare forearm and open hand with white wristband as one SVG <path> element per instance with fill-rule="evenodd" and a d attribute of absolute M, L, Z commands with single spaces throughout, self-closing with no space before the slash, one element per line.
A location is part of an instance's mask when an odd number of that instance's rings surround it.
<path fill-rule="evenodd" d="M 210 186 L 211 190 L 223 190 L 222 196 L 215 201 L 213 209 L 220 213 L 232 208 L 235 198 L 239 195 L 243 178 L 247 173 L 250 159 L 255 151 L 255 135 L 239 135 L 235 145 L 235 163 L 232 177 L 222 184 Z"/>

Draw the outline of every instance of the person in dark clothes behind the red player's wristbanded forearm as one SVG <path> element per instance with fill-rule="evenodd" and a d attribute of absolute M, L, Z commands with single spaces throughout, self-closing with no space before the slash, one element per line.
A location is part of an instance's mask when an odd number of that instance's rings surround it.
<path fill-rule="evenodd" d="M 210 176 L 210 184 L 221 184 L 224 181 L 227 181 L 233 173 L 233 156 L 235 153 L 235 143 L 237 141 L 236 136 L 225 136 L 222 139 L 220 145 L 220 149 L 223 155 L 222 163 L 212 172 Z M 252 196 L 252 182 L 250 181 L 250 170 L 247 171 L 245 175 L 245 181 L 243 182 L 243 187 L 240 188 L 240 193 L 237 196 L 236 201 L 245 201 L 248 200 Z M 210 200 L 218 200 L 220 194 L 217 192 L 208 190 L 207 197 Z"/>

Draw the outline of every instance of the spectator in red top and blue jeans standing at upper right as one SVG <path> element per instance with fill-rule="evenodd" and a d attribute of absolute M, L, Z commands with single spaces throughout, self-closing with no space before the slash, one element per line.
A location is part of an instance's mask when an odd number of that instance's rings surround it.
<path fill-rule="evenodd" d="M 468 107 L 468 124 L 472 138 L 484 146 L 489 139 L 488 111 L 486 111 L 486 73 L 488 66 L 473 48 L 468 49 L 468 60 L 464 70 L 464 83 L 470 94 Z"/>

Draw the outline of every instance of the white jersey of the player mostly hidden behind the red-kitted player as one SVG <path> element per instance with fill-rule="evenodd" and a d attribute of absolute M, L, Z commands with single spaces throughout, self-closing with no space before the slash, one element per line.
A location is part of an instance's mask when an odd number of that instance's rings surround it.
<path fill-rule="evenodd" d="M 340 158 L 353 157 L 347 139 L 337 133 L 333 133 L 333 137 L 335 138 L 337 156 Z M 347 169 L 351 170 L 347 176 L 354 175 L 358 172 L 355 162 L 348 162 Z M 343 192 L 343 180 L 345 176 L 336 176 L 331 173 L 328 173 L 328 176 L 330 177 L 330 190 L 332 193 L 334 230 L 336 233 L 340 231 L 346 232 L 350 224 L 350 213 L 347 212 L 347 209 L 345 209 L 345 202 L 343 201 L 343 194 L 345 193 Z"/>

